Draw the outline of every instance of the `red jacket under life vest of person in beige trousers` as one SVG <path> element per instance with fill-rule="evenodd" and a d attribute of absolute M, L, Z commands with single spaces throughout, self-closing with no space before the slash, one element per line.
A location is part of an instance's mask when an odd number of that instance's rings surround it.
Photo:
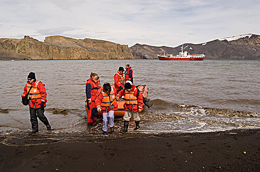
<path fill-rule="evenodd" d="M 135 88 L 135 86 L 132 85 L 132 89 L 130 90 L 130 92 L 134 91 L 133 96 L 136 97 L 138 88 L 135 90 L 134 90 L 134 88 Z M 126 92 L 125 89 L 122 89 L 121 91 L 118 92 L 117 97 L 122 97 L 123 95 L 125 95 L 125 92 Z M 125 103 L 124 104 L 125 111 L 138 112 L 138 109 L 143 108 L 143 94 L 140 91 L 138 91 L 138 92 L 139 92 L 139 95 L 137 97 L 138 104 L 136 105 L 136 104 L 126 104 Z"/>

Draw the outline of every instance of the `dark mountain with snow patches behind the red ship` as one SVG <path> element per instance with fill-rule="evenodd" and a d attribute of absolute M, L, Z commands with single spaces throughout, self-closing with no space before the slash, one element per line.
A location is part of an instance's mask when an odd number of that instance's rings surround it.
<path fill-rule="evenodd" d="M 188 47 L 184 51 L 190 54 L 204 54 L 205 59 L 260 59 L 260 35 L 245 34 L 233 36 L 201 44 L 184 44 Z M 155 47 L 150 45 L 135 44 L 130 47 L 134 58 L 149 59 L 158 58 L 158 54 L 177 55 L 181 46 Z"/>

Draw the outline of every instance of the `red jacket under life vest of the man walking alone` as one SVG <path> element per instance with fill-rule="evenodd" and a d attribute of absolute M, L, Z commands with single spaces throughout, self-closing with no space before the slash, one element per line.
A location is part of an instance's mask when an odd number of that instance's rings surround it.
<path fill-rule="evenodd" d="M 36 79 L 35 79 L 35 82 L 36 82 Z M 30 86 L 35 86 L 35 82 L 34 83 L 30 83 L 29 81 L 27 81 L 27 83 L 30 85 Z M 46 90 L 45 90 L 45 85 L 42 84 L 42 82 L 39 82 L 38 86 L 37 86 L 37 89 L 38 91 L 40 92 L 40 95 L 41 95 L 41 98 L 37 98 L 37 99 L 29 99 L 29 107 L 31 108 L 34 108 L 34 109 L 37 109 L 37 108 L 40 108 L 40 104 L 41 102 L 44 102 L 44 107 L 46 106 L 46 102 L 47 102 L 47 93 L 46 93 Z M 27 94 L 27 84 L 25 85 L 24 87 L 24 92 L 22 94 L 22 97 L 24 97 L 26 94 Z M 36 101 L 36 103 L 35 103 Z"/>

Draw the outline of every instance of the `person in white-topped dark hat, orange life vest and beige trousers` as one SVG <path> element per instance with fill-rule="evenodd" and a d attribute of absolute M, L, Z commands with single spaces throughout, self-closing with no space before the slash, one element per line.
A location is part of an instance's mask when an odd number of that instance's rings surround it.
<path fill-rule="evenodd" d="M 140 93 L 138 88 L 136 88 L 134 85 L 131 85 L 130 81 L 128 81 L 126 82 L 124 89 L 119 91 L 116 99 L 119 100 L 119 98 L 122 96 L 124 96 L 125 98 L 125 115 L 123 117 L 124 130 L 121 132 L 128 132 L 128 124 L 131 115 L 133 115 L 133 120 L 135 121 L 136 125 L 134 130 L 138 130 L 140 128 L 140 117 L 138 115 L 138 112 L 141 112 L 141 109 L 143 108 L 143 94 Z"/>

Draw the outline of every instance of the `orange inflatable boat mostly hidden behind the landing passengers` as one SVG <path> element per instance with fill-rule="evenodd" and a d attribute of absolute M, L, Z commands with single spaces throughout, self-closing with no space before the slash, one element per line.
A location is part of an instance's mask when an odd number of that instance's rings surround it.
<path fill-rule="evenodd" d="M 112 85 L 112 87 L 114 87 L 114 85 Z M 136 86 L 136 87 L 139 89 L 140 93 L 143 94 L 143 97 L 147 98 L 148 87 L 146 85 L 139 85 L 139 86 Z M 125 100 L 124 100 L 124 98 L 120 98 L 119 101 L 117 101 L 117 104 L 118 104 L 118 110 L 116 110 L 114 112 L 114 116 L 124 116 L 125 115 L 125 109 L 124 109 Z M 144 110 L 144 107 L 145 107 L 145 105 L 143 105 L 142 111 Z M 86 103 L 85 109 L 86 109 L 86 111 L 88 111 L 87 103 Z M 102 115 L 102 113 L 98 112 L 97 115 Z"/>

